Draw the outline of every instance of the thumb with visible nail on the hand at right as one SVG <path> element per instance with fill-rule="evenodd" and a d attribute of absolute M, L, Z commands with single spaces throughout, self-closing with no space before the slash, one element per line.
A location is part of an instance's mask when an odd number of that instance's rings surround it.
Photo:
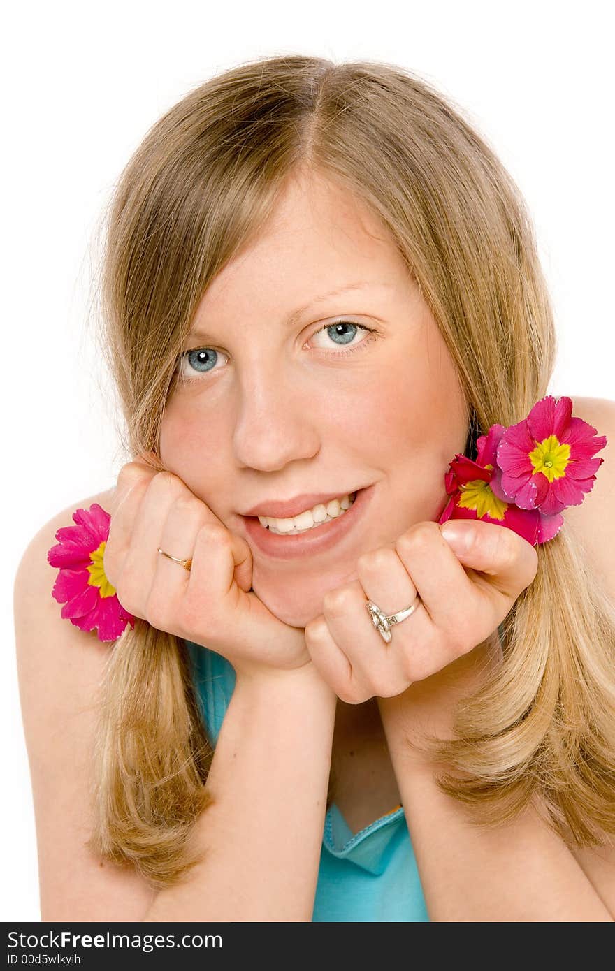
<path fill-rule="evenodd" d="M 497 585 L 514 596 L 530 586 L 538 568 L 538 554 L 508 526 L 481 519 L 450 519 L 440 531 L 463 566 L 497 578 Z"/>

